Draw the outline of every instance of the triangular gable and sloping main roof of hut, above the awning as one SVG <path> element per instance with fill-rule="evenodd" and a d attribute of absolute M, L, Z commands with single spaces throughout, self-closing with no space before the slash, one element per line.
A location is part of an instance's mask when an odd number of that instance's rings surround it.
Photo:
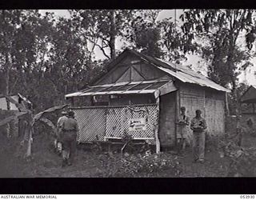
<path fill-rule="evenodd" d="M 188 66 L 176 65 L 160 58 L 153 58 L 135 50 L 126 49 L 107 66 L 109 72 L 94 85 L 116 82 L 139 82 L 155 79 L 172 79 L 214 90 L 230 92 L 216 82 L 191 70 Z"/>

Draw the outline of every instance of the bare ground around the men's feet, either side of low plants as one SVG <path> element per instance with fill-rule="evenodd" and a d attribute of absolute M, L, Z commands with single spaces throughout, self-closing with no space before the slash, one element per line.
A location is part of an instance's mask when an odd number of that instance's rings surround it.
<path fill-rule="evenodd" d="M 242 146 L 247 148 L 255 146 L 256 138 L 243 137 Z M 11 138 L 1 138 L 0 148 L 0 177 L 2 178 L 94 178 L 106 170 L 99 159 L 107 152 L 95 150 L 78 150 L 72 166 L 62 167 L 61 157 L 54 152 L 52 138 L 46 134 L 34 137 L 33 158 L 26 162 L 18 157 L 20 151 Z M 174 169 L 161 170 L 158 177 L 227 177 L 230 176 L 230 163 L 228 157 L 221 158 L 219 152 L 210 146 L 206 147 L 206 162 L 193 163 L 190 147 L 184 154 L 175 154 L 174 151 L 165 152 L 167 156 L 175 156 L 178 163 L 178 173 Z M 231 174 L 232 176 L 232 174 Z"/>

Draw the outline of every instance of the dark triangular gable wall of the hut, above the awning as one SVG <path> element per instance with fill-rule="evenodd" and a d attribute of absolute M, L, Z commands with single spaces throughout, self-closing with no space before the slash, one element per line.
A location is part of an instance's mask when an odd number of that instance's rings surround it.
<path fill-rule="evenodd" d="M 127 52 L 126 56 L 115 63 L 111 70 L 96 83 L 103 85 L 115 82 L 138 82 L 162 77 L 166 79 L 166 73 L 151 66 L 137 55 Z"/>

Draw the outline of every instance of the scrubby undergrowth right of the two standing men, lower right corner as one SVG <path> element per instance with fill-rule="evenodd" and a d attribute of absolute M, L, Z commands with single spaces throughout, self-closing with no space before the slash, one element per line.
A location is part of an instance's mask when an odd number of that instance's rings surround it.
<path fill-rule="evenodd" d="M 237 133 L 237 118 L 227 118 L 226 125 L 229 127 L 226 134 L 206 137 L 206 149 L 215 150 L 220 158 L 229 160 L 226 176 L 255 176 L 256 149 L 253 142 L 250 147 L 243 144 L 248 139 L 254 140 L 252 137 L 255 136 L 245 125 L 241 127 L 242 132 Z M 239 141 L 242 141 L 242 146 L 239 146 Z"/>

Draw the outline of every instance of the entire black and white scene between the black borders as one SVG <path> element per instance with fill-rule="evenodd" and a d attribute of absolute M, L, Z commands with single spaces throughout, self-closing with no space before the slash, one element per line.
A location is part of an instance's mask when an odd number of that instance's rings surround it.
<path fill-rule="evenodd" d="M 0 10 L 0 178 L 256 176 L 256 10 Z"/>

